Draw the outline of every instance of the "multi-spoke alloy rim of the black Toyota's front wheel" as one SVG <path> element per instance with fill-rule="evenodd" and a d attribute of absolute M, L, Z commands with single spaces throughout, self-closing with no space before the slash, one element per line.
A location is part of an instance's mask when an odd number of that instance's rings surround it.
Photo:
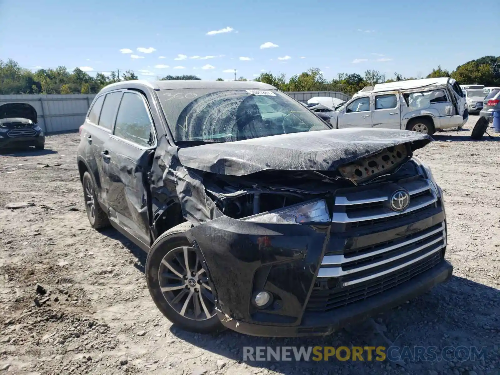
<path fill-rule="evenodd" d="M 158 282 L 163 297 L 180 315 L 204 320 L 215 315 L 215 301 L 201 259 L 190 246 L 176 247 L 161 259 Z"/>

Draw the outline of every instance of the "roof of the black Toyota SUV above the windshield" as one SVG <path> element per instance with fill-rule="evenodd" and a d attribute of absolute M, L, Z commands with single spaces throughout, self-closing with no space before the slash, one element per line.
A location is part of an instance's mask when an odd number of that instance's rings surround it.
<path fill-rule="evenodd" d="M 132 79 L 108 84 L 99 92 L 111 91 L 120 88 L 148 87 L 153 90 L 171 90 L 183 88 L 242 88 L 257 90 L 277 90 L 276 87 L 267 83 L 241 80 L 241 81 L 216 81 L 216 80 L 157 80 L 147 81 L 143 79 Z"/>

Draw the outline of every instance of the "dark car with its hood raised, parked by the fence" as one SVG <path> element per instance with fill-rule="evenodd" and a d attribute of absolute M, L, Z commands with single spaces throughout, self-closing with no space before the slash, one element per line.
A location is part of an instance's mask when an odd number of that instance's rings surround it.
<path fill-rule="evenodd" d="M 45 147 L 45 135 L 36 124 L 36 110 L 27 103 L 0 105 L 0 149 L 9 147 Z"/>

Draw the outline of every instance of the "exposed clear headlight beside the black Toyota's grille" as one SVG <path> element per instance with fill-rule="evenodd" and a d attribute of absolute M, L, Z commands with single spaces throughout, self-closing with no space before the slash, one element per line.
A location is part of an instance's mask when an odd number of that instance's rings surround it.
<path fill-rule="evenodd" d="M 330 214 L 324 199 L 296 204 L 272 212 L 259 213 L 241 220 L 261 223 L 305 224 L 330 222 Z"/>

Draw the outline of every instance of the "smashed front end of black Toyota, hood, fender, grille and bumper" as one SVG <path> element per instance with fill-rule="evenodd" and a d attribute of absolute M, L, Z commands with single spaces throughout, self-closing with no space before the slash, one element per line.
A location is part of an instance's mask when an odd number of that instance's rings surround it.
<path fill-rule="evenodd" d="M 412 157 L 430 140 L 345 129 L 185 148 L 160 143 L 152 231 L 175 215 L 191 222 L 185 234 L 205 258 L 227 327 L 327 334 L 451 274 L 441 192 Z M 168 195 L 172 187 L 176 196 Z M 407 194 L 403 209 L 394 207 L 396 192 Z"/>

